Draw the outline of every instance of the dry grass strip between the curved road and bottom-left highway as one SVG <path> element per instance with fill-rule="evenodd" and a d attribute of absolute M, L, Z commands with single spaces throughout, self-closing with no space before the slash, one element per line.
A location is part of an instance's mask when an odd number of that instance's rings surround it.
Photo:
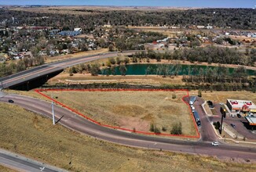
<path fill-rule="evenodd" d="M 0 103 L 0 109 L 2 149 L 70 171 L 256 170 L 255 164 L 245 162 L 115 145 L 53 126 L 51 120 L 17 106 Z"/>

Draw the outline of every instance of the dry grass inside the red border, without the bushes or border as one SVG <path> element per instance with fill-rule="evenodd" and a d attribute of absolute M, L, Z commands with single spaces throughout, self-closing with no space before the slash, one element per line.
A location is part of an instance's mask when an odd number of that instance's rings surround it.
<path fill-rule="evenodd" d="M 79 110 L 101 124 L 130 130 L 149 131 L 150 124 L 170 134 L 174 124 L 181 122 L 182 133 L 196 135 L 188 106 L 181 98 L 185 91 L 49 91 L 57 101 Z M 176 95 L 176 99 L 172 96 Z"/>

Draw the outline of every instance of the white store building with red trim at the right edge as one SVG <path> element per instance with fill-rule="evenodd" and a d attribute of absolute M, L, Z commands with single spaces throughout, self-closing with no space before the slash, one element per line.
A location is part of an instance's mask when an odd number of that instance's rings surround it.
<path fill-rule="evenodd" d="M 232 100 L 227 99 L 227 106 L 232 113 L 243 112 L 243 113 L 256 113 L 256 106 L 254 102 L 249 100 Z"/>

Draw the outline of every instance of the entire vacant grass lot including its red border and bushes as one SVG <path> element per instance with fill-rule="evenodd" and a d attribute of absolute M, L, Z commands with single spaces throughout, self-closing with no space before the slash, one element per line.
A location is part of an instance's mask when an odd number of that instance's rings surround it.
<path fill-rule="evenodd" d="M 199 138 L 186 89 L 36 89 L 94 124 L 137 134 Z M 52 98 L 53 95 L 53 98 Z"/>

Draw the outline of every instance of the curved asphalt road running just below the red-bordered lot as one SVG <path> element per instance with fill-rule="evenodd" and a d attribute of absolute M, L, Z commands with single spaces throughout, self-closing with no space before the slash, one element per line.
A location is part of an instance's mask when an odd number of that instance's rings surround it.
<path fill-rule="evenodd" d="M 43 116 L 48 116 L 49 118 L 52 117 L 51 104 L 49 102 L 21 95 L 3 95 L 0 98 L 0 101 L 8 102 L 9 99 L 13 99 L 13 104 L 24 107 L 24 109 L 42 114 Z M 74 131 L 79 131 L 82 134 L 87 134 L 108 142 L 115 142 L 117 144 L 130 145 L 144 149 L 162 149 L 172 152 L 186 152 L 218 157 L 256 159 L 255 147 L 240 147 L 225 144 L 212 146 L 211 142 L 174 140 L 158 136 L 133 134 L 108 127 L 101 127 L 60 106 L 55 106 L 54 110 L 56 120 L 61 118 L 58 124 L 62 124 Z"/>

